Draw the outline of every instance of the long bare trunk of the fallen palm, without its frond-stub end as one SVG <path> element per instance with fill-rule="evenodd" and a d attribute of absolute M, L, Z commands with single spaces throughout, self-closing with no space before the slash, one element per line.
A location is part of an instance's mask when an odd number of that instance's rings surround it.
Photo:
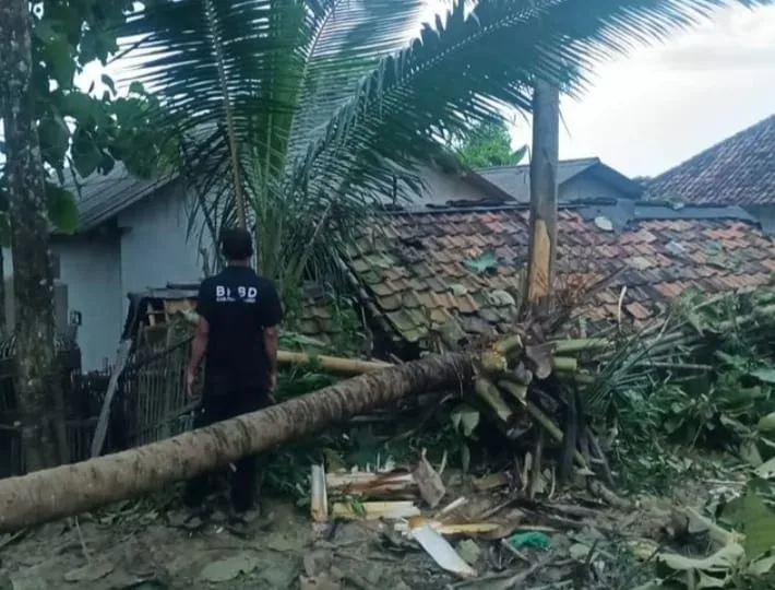
<path fill-rule="evenodd" d="M 455 387 L 472 373 L 469 355 L 429 356 L 153 445 L 0 480 L 0 532 L 162 488 L 409 394 Z"/>

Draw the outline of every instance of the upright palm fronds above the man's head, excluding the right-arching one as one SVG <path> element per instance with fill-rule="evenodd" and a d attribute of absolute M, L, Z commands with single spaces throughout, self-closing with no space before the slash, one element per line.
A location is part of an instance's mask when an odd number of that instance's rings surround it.
<path fill-rule="evenodd" d="M 311 130 L 329 120 L 374 61 L 406 43 L 424 5 L 163 0 L 133 14 L 119 33 L 142 39 L 135 51 L 142 67 L 131 75 L 160 97 L 160 125 L 184 139 L 181 172 L 193 194 L 189 232 L 212 239 L 237 221 L 260 227 L 260 264 L 270 274 L 298 250 L 288 246 L 291 238 L 305 245 L 298 261 L 317 256 L 308 241 L 331 220 L 302 231 L 293 216 L 305 201 L 308 219 L 311 210 L 327 219 L 331 199 L 308 194 L 306 178 L 287 175 L 287 156 L 303 152 Z M 282 244 L 273 241 L 281 232 L 287 234 Z M 290 264 L 294 276 L 298 261 Z"/>

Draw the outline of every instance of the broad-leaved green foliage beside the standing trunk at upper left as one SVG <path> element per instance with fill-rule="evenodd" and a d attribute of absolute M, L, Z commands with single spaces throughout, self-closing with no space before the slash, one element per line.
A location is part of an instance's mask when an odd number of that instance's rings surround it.
<path fill-rule="evenodd" d="M 31 4 L 31 93 L 45 165 L 47 213 L 51 223 L 67 233 L 78 226 L 73 192 L 83 179 L 109 173 L 118 161 L 130 173 L 147 177 L 172 153 L 174 145 L 163 141 L 152 123 L 159 104 L 141 86 L 118 96 L 114 81 L 103 75 L 108 90 L 98 97 L 93 87 L 83 92 L 75 85 L 75 76 L 86 64 L 95 60 L 105 64 L 118 52 L 117 26 L 132 5 L 128 0 L 43 0 Z M 7 212 L 3 168 L 0 210 Z M 1 239 L 8 243 L 8 236 Z"/>

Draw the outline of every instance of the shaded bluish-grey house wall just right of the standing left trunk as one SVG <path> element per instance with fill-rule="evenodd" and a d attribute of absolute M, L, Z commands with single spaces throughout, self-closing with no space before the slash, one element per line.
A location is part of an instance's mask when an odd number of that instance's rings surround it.
<path fill-rule="evenodd" d="M 76 340 L 84 370 L 98 370 L 114 362 L 123 323 L 121 309 L 120 248 L 117 238 L 52 236 L 51 252 L 59 259 L 55 281 L 57 327 L 69 324 L 73 312 L 81 316 Z M 5 312 L 15 322 L 11 251 L 3 250 Z"/>

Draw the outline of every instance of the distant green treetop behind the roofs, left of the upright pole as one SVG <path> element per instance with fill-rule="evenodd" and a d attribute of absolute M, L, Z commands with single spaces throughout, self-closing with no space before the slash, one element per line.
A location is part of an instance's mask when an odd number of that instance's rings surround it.
<path fill-rule="evenodd" d="M 527 145 L 511 149 L 511 135 L 504 121 L 484 123 L 454 143 L 461 162 L 472 168 L 514 166 L 527 153 Z"/>

